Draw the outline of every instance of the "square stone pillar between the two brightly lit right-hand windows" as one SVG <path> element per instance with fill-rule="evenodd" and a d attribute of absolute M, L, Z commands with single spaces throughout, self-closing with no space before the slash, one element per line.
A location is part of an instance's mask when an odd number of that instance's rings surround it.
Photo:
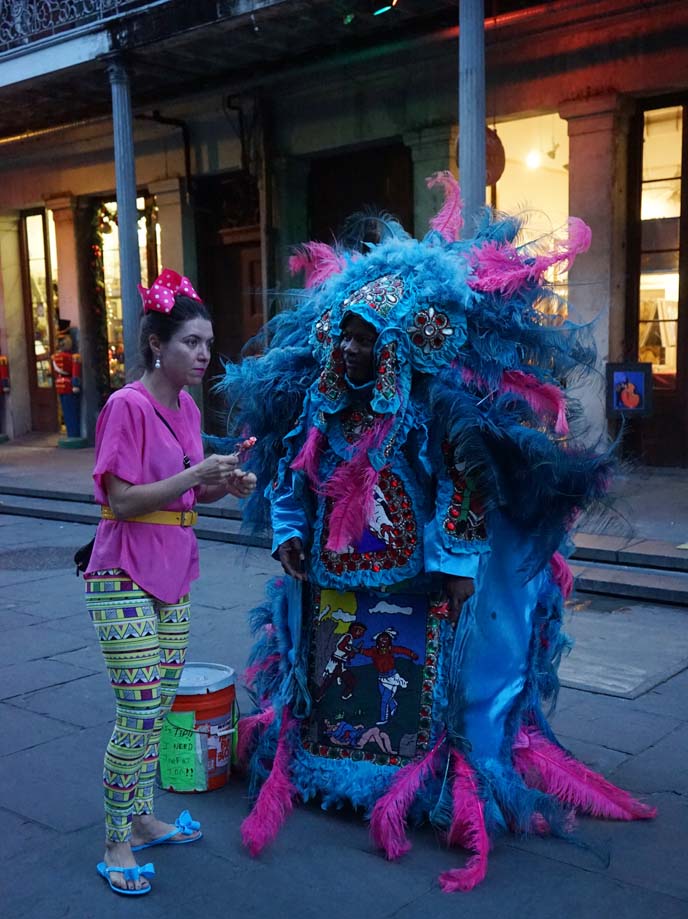
<path fill-rule="evenodd" d="M 565 102 L 559 114 L 569 128 L 569 213 L 592 230 L 590 251 L 569 274 L 569 299 L 572 319 L 594 323 L 599 374 L 575 393 L 594 444 L 607 433 L 605 365 L 623 356 L 630 106 L 609 94 Z"/>

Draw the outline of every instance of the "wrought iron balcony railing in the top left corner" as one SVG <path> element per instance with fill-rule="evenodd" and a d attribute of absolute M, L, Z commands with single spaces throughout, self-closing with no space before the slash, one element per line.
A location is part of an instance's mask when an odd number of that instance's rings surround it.
<path fill-rule="evenodd" d="M 167 0 L 0 0 L 0 54 Z"/>

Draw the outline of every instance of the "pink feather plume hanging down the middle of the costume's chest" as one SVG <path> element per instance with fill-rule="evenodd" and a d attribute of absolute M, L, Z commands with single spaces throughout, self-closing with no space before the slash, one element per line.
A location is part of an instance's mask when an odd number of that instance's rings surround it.
<path fill-rule="evenodd" d="M 391 419 L 375 424 L 358 442 L 354 457 L 340 463 L 322 489 L 333 499 L 326 545 L 331 552 L 343 552 L 353 545 L 370 521 L 379 472 L 372 466 L 368 450 L 383 442 L 390 424 Z"/>

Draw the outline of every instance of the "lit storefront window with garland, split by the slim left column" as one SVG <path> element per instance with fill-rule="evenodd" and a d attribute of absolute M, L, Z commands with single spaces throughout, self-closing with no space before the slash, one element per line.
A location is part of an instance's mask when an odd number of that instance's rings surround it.
<path fill-rule="evenodd" d="M 158 265 L 160 264 L 160 226 L 157 222 L 157 208 L 154 198 L 137 198 L 136 206 L 139 212 L 138 240 L 141 283 L 145 287 L 149 287 L 157 276 Z M 125 382 L 125 370 L 116 202 L 108 201 L 103 204 L 100 229 L 103 238 L 103 274 L 105 278 L 110 386 L 112 389 L 119 389 Z"/>

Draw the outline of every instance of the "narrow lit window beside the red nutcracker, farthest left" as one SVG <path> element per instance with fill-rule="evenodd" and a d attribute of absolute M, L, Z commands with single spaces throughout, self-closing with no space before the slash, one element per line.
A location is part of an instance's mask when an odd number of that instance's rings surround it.
<path fill-rule="evenodd" d="M 52 231 L 52 233 L 51 233 Z M 52 389 L 50 355 L 57 337 L 54 328 L 57 306 L 57 279 L 53 276 L 54 225 L 52 214 L 41 211 L 24 217 L 26 277 L 31 310 L 31 350 L 36 366 L 36 385 Z M 51 259 L 51 253 L 53 259 Z"/>

